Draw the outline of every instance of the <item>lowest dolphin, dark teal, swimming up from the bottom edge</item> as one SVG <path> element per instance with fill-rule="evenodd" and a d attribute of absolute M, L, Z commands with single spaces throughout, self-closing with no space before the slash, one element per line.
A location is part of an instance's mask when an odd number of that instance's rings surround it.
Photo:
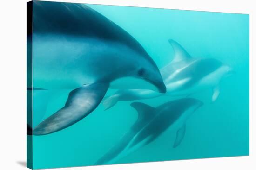
<path fill-rule="evenodd" d="M 158 107 L 150 107 L 141 102 L 132 103 L 131 106 L 138 112 L 138 119 L 96 164 L 115 163 L 120 158 L 154 141 L 168 127 L 177 130 L 173 148 L 177 147 L 184 137 L 186 121 L 202 105 L 202 101 L 194 98 L 169 101 Z"/>

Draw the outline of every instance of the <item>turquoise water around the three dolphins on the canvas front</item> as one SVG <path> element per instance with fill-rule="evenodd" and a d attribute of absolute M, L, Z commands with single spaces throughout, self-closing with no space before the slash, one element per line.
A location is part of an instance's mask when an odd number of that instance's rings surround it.
<path fill-rule="evenodd" d="M 249 15 L 209 13 L 125 6 L 88 5 L 128 31 L 159 68 L 173 58 L 172 38 L 193 57 L 215 58 L 236 74 L 220 82 L 220 95 L 211 102 L 212 89 L 196 93 L 204 106 L 187 122 L 185 137 L 172 148 L 176 132 L 169 128 L 151 144 L 119 159 L 116 164 L 249 155 Z M 34 75 L 36 76 L 36 75 Z M 115 90 L 108 90 L 113 94 Z M 63 107 L 69 91 L 49 100 L 45 118 Z M 175 97 L 141 100 L 159 106 Z M 93 165 L 137 119 L 132 101 L 118 102 L 59 132 L 33 136 L 34 169 Z M 34 113 L 36 114 L 36 113 Z"/>

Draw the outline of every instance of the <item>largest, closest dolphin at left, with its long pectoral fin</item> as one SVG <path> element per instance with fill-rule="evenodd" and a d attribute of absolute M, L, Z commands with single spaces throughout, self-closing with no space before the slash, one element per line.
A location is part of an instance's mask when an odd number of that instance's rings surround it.
<path fill-rule="evenodd" d="M 33 88 L 72 90 L 65 106 L 35 126 L 33 135 L 83 119 L 122 77 L 166 92 L 152 58 L 111 20 L 83 4 L 33 1 Z"/>

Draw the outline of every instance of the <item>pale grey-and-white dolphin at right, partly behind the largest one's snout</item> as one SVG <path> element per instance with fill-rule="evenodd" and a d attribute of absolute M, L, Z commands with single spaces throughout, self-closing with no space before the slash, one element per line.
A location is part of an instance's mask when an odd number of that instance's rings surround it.
<path fill-rule="evenodd" d="M 219 82 L 233 69 L 213 58 L 193 58 L 176 41 L 170 39 L 174 50 L 174 59 L 160 69 L 170 96 L 189 95 L 205 88 L 212 88 L 212 101 L 219 96 Z M 118 101 L 150 99 L 163 94 L 146 89 L 120 89 L 103 100 L 105 109 L 113 107 Z"/>

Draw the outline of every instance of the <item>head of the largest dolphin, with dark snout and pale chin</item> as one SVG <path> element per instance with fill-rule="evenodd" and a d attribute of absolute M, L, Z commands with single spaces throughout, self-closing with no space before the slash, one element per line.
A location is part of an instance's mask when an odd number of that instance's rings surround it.
<path fill-rule="evenodd" d="M 133 55 L 127 59 L 127 54 Z M 116 75 L 111 76 L 111 88 L 119 89 L 149 89 L 160 93 L 166 93 L 166 87 L 163 82 L 162 75 L 153 61 L 147 55 L 125 52 L 123 56 L 124 62 L 120 65 L 118 61 L 118 69 Z M 115 61 L 111 61 L 114 62 Z"/>

